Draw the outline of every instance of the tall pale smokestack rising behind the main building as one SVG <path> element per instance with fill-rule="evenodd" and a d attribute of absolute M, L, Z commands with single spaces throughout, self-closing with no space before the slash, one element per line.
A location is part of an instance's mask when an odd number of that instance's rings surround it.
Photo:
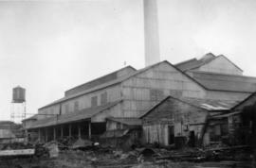
<path fill-rule="evenodd" d="M 143 0 L 145 65 L 160 61 L 156 0 Z"/>

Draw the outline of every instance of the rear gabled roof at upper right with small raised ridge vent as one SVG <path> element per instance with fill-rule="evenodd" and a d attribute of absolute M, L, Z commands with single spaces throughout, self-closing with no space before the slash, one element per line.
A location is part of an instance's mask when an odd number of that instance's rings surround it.
<path fill-rule="evenodd" d="M 177 64 L 175 64 L 175 66 L 180 69 L 181 71 L 188 71 L 188 70 L 193 70 L 196 68 L 199 68 L 205 64 L 210 63 L 212 60 L 214 59 L 218 59 L 218 58 L 225 58 L 227 60 L 229 60 L 227 57 L 220 55 L 220 56 L 214 56 L 212 53 L 208 53 L 206 54 L 203 58 L 201 59 L 189 59 L 189 60 L 185 60 L 182 62 L 179 62 Z M 232 63 L 235 67 L 237 67 L 240 71 L 243 72 L 243 70 L 241 68 L 239 68 L 236 64 L 234 64 L 231 60 L 229 60 L 230 63 Z"/>

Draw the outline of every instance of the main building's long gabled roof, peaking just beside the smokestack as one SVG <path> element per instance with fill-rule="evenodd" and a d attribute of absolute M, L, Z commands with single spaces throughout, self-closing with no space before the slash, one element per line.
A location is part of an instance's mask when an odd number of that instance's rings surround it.
<path fill-rule="evenodd" d="M 89 89 L 89 90 L 86 90 L 86 91 L 83 91 L 83 92 L 79 92 L 79 93 L 74 94 L 74 95 L 71 95 L 71 96 L 66 96 L 66 97 L 61 98 L 61 99 L 59 99 L 59 100 L 56 100 L 56 101 L 54 101 L 54 102 L 52 102 L 52 103 L 50 103 L 50 104 L 48 104 L 48 105 L 46 105 L 46 106 L 44 106 L 44 107 L 42 107 L 42 108 L 40 108 L 40 109 L 44 109 L 44 108 L 50 107 L 50 106 L 52 106 L 52 105 L 56 105 L 56 104 L 59 104 L 59 103 L 63 103 L 64 101 L 67 101 L 67 100 L 70 100 L 70 99 L 73 99 L 73 98 L 82 96 L 82 95 L 84 95 L 84 94 L 86 94 L 86 93 L 89 93 L 89 92 L 95 92 L 95 91 L 99 91 L 99 90 L 101 90 L 101 89 L 104 89 L 104 88 L 107 88 L 107 87 L 110 87 L 110 86 L 117 85 L 117 84 L 119 84 L 119 83 L 121 83 L 121 82 L 123 82 L 123 81 L 125 81 L 125 80 L 128 80 L 129 78 L 131 78 L 131 77 L 133 77 L 133 76 L 137 76 L 137 75 L 139 75 L 139 74 L 141 74 L 141 73 L 143 73 L 143 72 L 145 72 L 145 71 L 147 71 L 147 70 L 149 70 L 149 69 L 151 69 L 151 68 L 154 68 L 155 66 L 157 66 L 157 65 L 159 65 L 159 64 L 161 64 L 161 63 L 163 63 L 163 62 L 168 63 L 168 64 L 169 64 L 170 66 L 172 66 L 175 70 L 177 70 L 178 72 L 180 72 L 180 73 L 183 74 L 184 76 L 187 76 L 188 78 L 192 79 L 192 81 L 194 81 L 197 85 L 199 85 L 199 86 L 201 86 L 202 88 L 206 89 L 205 86 L 203 86 L 202 84 L 200 84 L 199 82 L 197 82 L 196 80 L 194 80 L 191 76 L 188 76 L 186 73 L 184 73 L 184 72 L 182 72 L 181 70 L 179 70 L 178 68 L 176 68 L 172 63 L 170 63 L 170 62 L 167 61 L 167 60 L 163 60 L 163 61 L 160 61 L 160 62 L 158 62 L 158 63 L 155 63 L 155 64 L 153 64 L 153 65 L 151 65 L 151 66 L 148 66 L 148 67 L 145 67 L 145 68 L 143 68 L 143 69 L 137 70 L 136 72 L 134 72 L 134 73 L 132 73 L 132 74 L 129 74 L 129 75 L 127 75 L 127 76 L 121 76 L 121 77 L 119 77 L 118 79 L 112 80 L 112 81 L 110 81 L 110 82 L 106 82 L 106 83 L 104 83 L 104 84 L 101 84 L 101 85 L 99 85 L 99 86 L 97 86 L 97 87 L 94 87 L 94 88 L 91 88 L 91 89 Z"/>

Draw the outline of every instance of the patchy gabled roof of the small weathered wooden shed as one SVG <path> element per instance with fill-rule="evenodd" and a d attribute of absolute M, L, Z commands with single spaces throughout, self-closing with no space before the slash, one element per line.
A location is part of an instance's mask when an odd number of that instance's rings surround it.
<path fill-rule="evenodd" d="M 166 102 L 169 99 L 174 99 L 183 103 L 186 103 L 192 107 L 198 108 L 198 109 L 205 109 L 208 111 L 220 111 L 220 110 L 229 110 L 233 106 L 235 106 L 239 101 L 231 101 L 231 100 L 211 100 L 211 99 L 199 99 L 199 98 L 191 98 L 191 97 L 174 97 L 174 96 L 167 96 L 158 103 L 155 104 L 155 106 L 151 109 L 149 109 L 146 113 L 141 115 L 139 118 L 143 118 L 146 115 L 148 115 L 152 110 L 159 107 L 161 104 Z"/>

